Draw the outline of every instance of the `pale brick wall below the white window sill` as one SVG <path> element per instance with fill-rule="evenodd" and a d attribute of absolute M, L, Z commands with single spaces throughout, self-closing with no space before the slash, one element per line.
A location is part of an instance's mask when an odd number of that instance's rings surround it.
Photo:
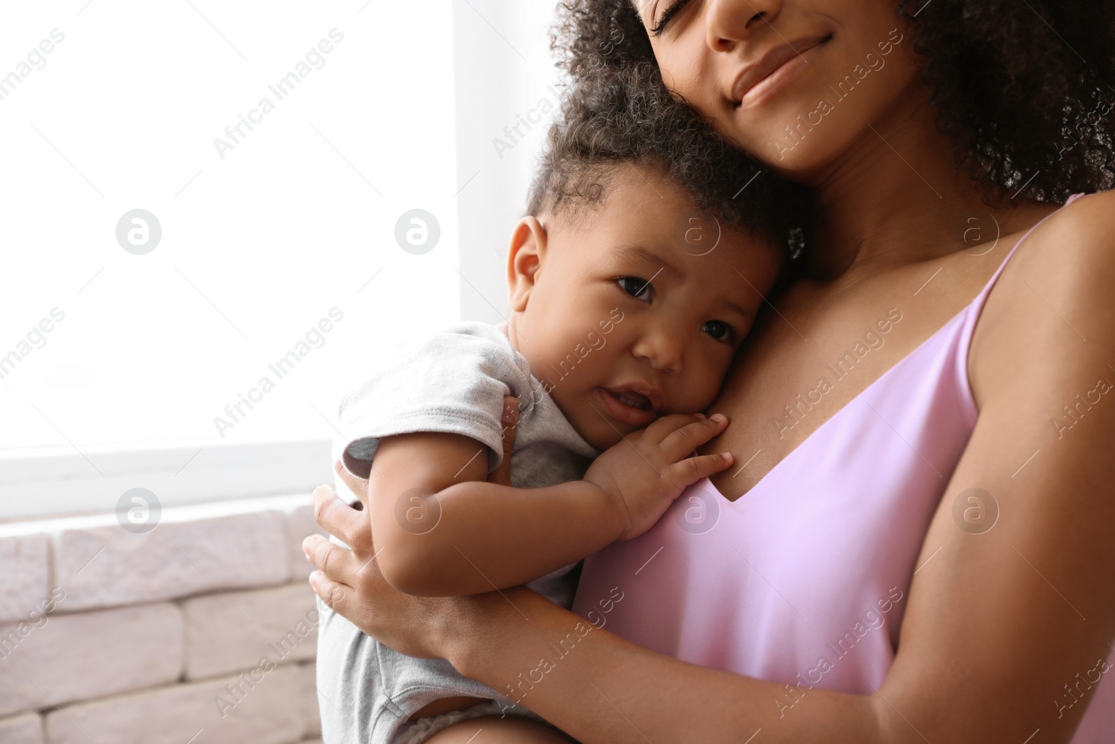
<path fill-rule="evenodd" d="M 0 742 L 320 742 L 316 531 L 304 495 L 0 525 Z"/>

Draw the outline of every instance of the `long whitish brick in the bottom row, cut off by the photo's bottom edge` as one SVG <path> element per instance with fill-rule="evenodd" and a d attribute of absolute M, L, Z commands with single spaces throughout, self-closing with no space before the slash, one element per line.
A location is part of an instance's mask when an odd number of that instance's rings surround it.
<path fill-rule="evenodd" d="M 260 678 L 262 676 L 262 678 Z M 287 665 L 255 675 L 173 685 L 65 707 L 47 715 L 50 744 L 289 744 L 301 737 L 301 671 Z M 239 699 L 226 685 L 239 684 Z M 226 700 L 219 706 L 217 697 Z M 229 707 L 235 703 L 234 706 Z M 223 713 L 225 714 L 222 717 Z"/>

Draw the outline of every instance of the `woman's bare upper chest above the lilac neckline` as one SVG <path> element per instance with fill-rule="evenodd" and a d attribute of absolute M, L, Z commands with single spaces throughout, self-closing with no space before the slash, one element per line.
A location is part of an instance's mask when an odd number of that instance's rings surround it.
<path fill-rule="evenodd" d="M 934 265 L 846 292 L 806 288 L 766 313 L 709 408 L 731 422 L 701 448 L 733 454 L 733 467 L 712 479 L 726 497 L 747 493 L 979 292 L 986 264 Z"/>

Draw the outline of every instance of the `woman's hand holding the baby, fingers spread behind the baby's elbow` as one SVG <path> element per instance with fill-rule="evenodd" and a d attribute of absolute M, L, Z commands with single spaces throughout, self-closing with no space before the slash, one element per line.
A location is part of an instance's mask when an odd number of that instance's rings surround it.
<path fill-rule="evenodd" d="M 489 481 L 511 485 L 518 399 L 504 399 L 503 462 Z M 302 541 L 307 560 L 319 570 L 310 583 L 322 601 L 356 627 L 388 647 L 418 658 L 445 658 L 453 618 L 467 611 L 469 597 L 414 597 L 394 589 L 384 579 L 368 519 L 368 481 L 357 479 L 340 463 L 337 472 L 360 499 L 356 509 L 328 485 L 313 491 L 314 518 L 327 532 L 350 547 L 345 550 L 320 534 Z"/>

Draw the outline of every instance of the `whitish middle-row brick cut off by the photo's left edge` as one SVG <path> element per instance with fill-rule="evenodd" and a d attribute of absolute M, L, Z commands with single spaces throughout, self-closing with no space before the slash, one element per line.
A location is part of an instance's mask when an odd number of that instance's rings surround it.
<path fill-rule="evenodd" d="M 0 660 L 0 715 L 143 689 L 182 674 L 182 613 L 169 603 L 50 615 Z M 0 628 L 11 638 L 16 626 Z M 0 738 L 0 741 L 4 741 Z"/>

